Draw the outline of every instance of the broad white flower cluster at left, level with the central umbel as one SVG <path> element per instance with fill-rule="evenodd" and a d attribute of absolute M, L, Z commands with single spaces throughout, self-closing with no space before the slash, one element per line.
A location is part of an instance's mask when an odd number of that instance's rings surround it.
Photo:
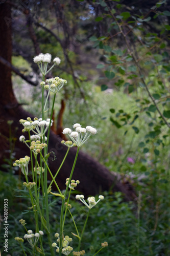
<path fill-rule="evenodd" d="M 31 120 L 30 117 L 27 118 L 27 120 L 20 119 L 19 122 L 24 126 L 22 129 L 22 132 L 28 132 L 32 131 L 34 135 L 31 136 L 32 141 L 45 139 L 47 140 L 45 133 L 48 130 L 48 127 L 50 126 L 50 118 L 47 118 L 46 120 L 42 120 L 42 118 L 34 118 L 34 121 Z M 51 126 L 53 125 L 53 120 L 51 120 Z M 19 141 L 26 142 L 25 136 L 21 135 L 19 137 Z"/>

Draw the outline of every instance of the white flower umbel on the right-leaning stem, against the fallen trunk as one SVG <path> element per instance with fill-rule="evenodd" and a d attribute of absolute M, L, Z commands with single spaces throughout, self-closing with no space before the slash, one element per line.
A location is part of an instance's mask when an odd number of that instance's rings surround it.
<path fill-rule="evenodd" d="M 63 134 L 68 134 L 70 139 L 78 146 L 82 146 L 91 135 L 95 135 L 97 130 L 92 126 L 86 126 L 86 128 L 81 127 L 80 123 L 75 123 L 73 125 L 75 131 L 69 128 L 63 130 Z"/>

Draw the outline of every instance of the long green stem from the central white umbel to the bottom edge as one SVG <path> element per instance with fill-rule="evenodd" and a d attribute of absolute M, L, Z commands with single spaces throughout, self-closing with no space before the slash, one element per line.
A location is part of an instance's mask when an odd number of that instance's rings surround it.
<path fill-rule="evenodd" d="M 69 184 L 70 184 L 70 181 L 71 181 L 71 178 L 72 178 L 72 174 L 73 174 L 74 169 L 75 169 L 75 165 L 76 165 L 76 161 L 77 161 L 77 158 L 78 158 L 79 150 L 80 150 L 80 147 L 77 148 L 77 152 L 76 152 L 76 156 L 75 156 L 75 161 L 74 161 L 74 164 L 72 165 L 72 169 L 71 169 L 71 173 L 70 173 L 70 176 L 69 176 L 68 184 L 66 186 L 65 193 L 64 193 L 64 198 L 66 197 L 66 194 L 67 194 L 67 191 L 68 191 L 68 187 L 69 187 Z M 62 199 L 61 214 L 60 214 L 59 256 L 61 256 L 61 254 L 62 254 L 64 203 L 65 203 L 65 199 Z"/>

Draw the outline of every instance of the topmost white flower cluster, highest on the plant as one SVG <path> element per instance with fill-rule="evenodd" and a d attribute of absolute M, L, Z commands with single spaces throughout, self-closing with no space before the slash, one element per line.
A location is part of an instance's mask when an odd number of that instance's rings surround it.
<path fill-rule="evenodd" d="M 39 55 L 33 58 L 34 63 L 37 63 L 41 74 L 44 76 L 48 72 L 50 72 L 50 70 L 52 70 L 55 65 L 59 65 L 61 62 L 61 59 L 59 57 L 56 57 L 53 60 L 54 65 L 47 71 L 47 66 L 48 64 L 50 64 L 51 59 L 52 59 L 52 55 L 50 53 L 46 53 L 46 54 L 40 53 Z"/>

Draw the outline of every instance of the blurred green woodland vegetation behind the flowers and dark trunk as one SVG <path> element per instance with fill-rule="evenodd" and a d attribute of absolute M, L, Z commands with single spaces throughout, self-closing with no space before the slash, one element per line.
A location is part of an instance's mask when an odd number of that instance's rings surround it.
<path fill-rule="evenodd" d="M 100 255 L 170 255 L 169 1 L 8 2 L 12 7 L 12 17 L 7 19 L 13 31 L 12 65 L 26 78 L 13 72 L 17 101 L 33 115 L 40 115 L 40 86 L 28 82 L 41 81 L 33 57 L 40 52 L 60 57 L 61 65 L 49 75 L 67 80 L 56 100 L 56 131 L 63 101 L 63 127 L 80 122 L 98 129 L 98 136 L 82 150 L 136 190 L 135 202 L 124 202 L 122 195 L 110 192 L 93 209 L 84 240 L 87 255 L 93 255 L 104 241 L 109 247 Z M 15 135 L 11 136 L 14 143 Z M 21 186 L 20 178 L 11 176 L 8 167 L 14 157 L 11 150 L 11 158 L 4 163 L 9 172 L 0 173 L 0 199 L 3 205 L 4 198 L 9 198 L 10 221 L 15 227 L 10 230 L 9 251 L 21 255 L 13 238 L 23 231 L 18 220 L 27 211 L 27 195 L 21 201 L 21 192 L 13 192 Z M 59 209 L 52 199 L 55 220 Z M 81 227 L 85 209 L 74 201 L 72 206 Z M 33 225 L 31 219 L 29 224 Z M 67 227 L 70 232 L 74 228 L 71 220 Z"/>

